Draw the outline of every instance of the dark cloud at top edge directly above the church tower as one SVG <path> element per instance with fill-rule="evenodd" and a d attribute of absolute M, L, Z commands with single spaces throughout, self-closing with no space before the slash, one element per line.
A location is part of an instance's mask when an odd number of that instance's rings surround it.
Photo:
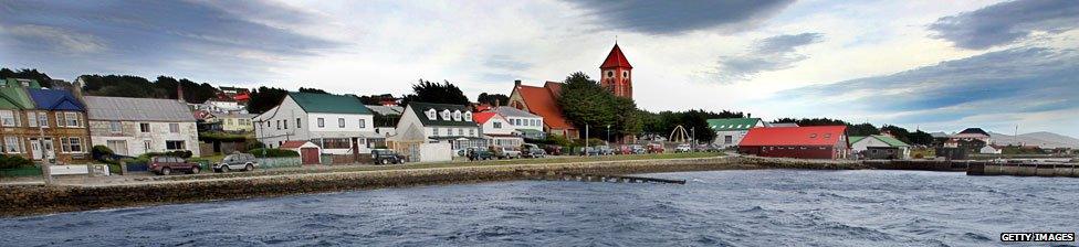
<path fill-rule="evenodd" d="M 761 1 L 603 1 L 568 0 L 596 17 L 598 24 L 647 34 L 680 34 L 713 28 L 748 30 L 794 0 Z"/>

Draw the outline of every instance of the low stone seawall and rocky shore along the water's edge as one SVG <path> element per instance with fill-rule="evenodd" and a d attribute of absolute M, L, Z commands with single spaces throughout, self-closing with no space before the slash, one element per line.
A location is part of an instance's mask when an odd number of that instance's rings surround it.
<path fill-rule="evenodd" d="M 714 157 L 282 174 L 109 185 L 3 185 L 0 216 L 431 184 L 524 180 L 556 172 L 632 174 L 741 169 L 867 169 L 856 161 Z"/>

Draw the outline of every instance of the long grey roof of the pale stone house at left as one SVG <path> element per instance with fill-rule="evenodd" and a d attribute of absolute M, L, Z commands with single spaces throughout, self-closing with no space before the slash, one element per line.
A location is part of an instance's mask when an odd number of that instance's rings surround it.
<path fill-rule="evenodd" d="M 90 120 L 195 121 L 191 109 L 176 99 L 85 96 Z"/>

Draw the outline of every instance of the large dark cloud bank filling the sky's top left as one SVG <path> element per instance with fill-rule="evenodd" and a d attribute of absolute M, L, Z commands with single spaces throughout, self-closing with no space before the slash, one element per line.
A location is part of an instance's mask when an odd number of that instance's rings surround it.
<path fill-rule="evenodd" d="M 283 28 L 317 23 L 316 18 L 260 2 L 2 1 L 0 15 L 0 45 L 6 50 L 0 53 L 8 63 L 62 73 L 129 71 L 178 61 L 197 62 L 170 72 L 258 66 L 339 45 Z M 54 64 L 46 57 L 69 61 Z"/>

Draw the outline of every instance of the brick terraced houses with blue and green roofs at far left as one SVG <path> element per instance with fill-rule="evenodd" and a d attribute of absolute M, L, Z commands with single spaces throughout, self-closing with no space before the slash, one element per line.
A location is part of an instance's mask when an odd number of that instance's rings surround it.
<path fill-rule="evenodd" d="M 36 82 L 0 85 L 3 152 L 60 164 L 86 162 L 90 131 L 86 109 L 70 92 L 42 89 Z"/>

